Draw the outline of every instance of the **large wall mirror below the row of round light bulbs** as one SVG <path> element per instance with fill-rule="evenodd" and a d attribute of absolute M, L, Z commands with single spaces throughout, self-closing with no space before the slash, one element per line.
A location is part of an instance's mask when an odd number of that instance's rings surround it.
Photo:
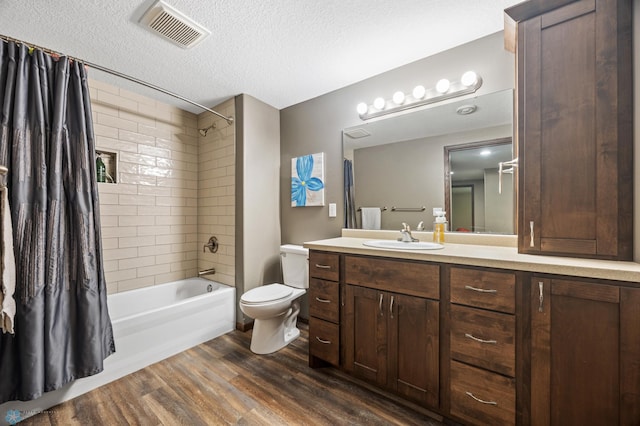
<path fill-rule="evenodd" d="M 344 129 L 344 157 L 353 167 L 354 209 L 381 208 L 380 229 L 399 230 L 403 222 L 416 229 L 422 222 L 431 230 L 433 208 L 440 207 L 449 209 L 447 220 L 457 221 L 450 230 L 513 234 L 516 197 L 511 176 L 503 181 L 502 194 L 497 188 L 498 162 L 512 158 L 512 122 L 513 90 L 504 90 Z M 494 153 L 480 154 L 485 149 Z M 474 153 L 481 162 L 471 161 Z M 464 179 L 466 173 L 475 177 Z M 465 197 L 473 203 L 459 202 Z M 463 209 L 473 210 L 464 213 L 471 221 L 460 222 Z M 362 228 L 361 212 L 355 216 L 356 227 Z M 494 225 L 505 222 L 510 226 Z"/>

